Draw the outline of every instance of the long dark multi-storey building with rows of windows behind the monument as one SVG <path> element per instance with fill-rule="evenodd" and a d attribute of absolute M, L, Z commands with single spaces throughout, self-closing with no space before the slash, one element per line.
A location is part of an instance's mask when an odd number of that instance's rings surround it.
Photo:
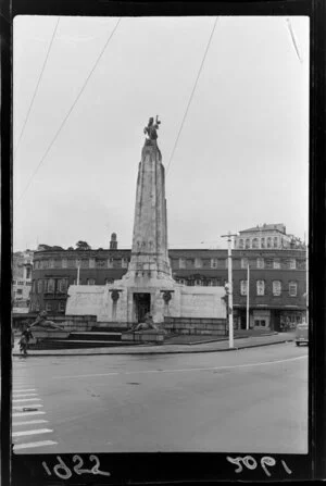
<path fill-rule="evenodd" d="M 172 249 L 173 276 L 184 285 L 225 285 L 227 250 Z M 105 285 L 127 271 L 130 250 L 43 250 L 34 254 L 30 311 L 64 314 L 72 284 Z M 246 328 L 249 288 L 250 326 L 279 331 L 305 319 L 306 253 L 300 248 L 233 250 L 235 327 Z M 247 282 L 249 265 L 249 286 Z"/>

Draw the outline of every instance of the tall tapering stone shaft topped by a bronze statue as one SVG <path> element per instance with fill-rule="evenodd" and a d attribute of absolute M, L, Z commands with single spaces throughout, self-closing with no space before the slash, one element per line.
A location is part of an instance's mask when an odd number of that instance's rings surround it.
<path fill-rule="evenodd" d="M 138 167 L 131 258 L 126 279 L 172 282 L 167 252 L 165 171 L 158 147 L 158 116 L 150 119 L 145 133 L 141 161 Z"/>

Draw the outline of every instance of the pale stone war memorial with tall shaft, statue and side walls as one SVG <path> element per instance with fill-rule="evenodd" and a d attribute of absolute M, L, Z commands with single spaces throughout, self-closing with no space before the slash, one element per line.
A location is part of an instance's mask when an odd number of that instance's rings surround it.
<path fill-rule="evenodd" d="M 97 315 L 99 324 L 111 323 L 114 328 L 129 328 L 149 314 L 154 324 L 163 325 L 170 317 L 226 320 L 224 287 L 187 287 L 172 277 L 160 123 L 158 116 L 151 117 L 143 130 L 128 270 L 105 286 L 70 286 L 66 315 Z"/>

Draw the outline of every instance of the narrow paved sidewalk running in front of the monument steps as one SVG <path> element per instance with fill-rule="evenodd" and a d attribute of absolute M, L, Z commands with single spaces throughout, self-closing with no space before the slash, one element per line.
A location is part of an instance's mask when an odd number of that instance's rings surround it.
<path fill-rule="evenodd" d="M 234 340 L 234 348 L 229 348 L 228 340 L 203 342 L 199 345 L 168 345 L 161 346 L 137 345 L 137 346 L 118 346 L 116 348 L 87 348 L 87 349 L 45 349 L 28 350 L 28 356 L 46 357 L 46 356 L 97 356 L 97 354 L 175 354 L 175 353 L 193 353 L 193 352 L 217 352 L 217 351 L 236 351 L 244 348 L 255 348 L 259 346 L 278 345 L 280 342 L 293 341 L 293 333 L 278 333 L 263 336 L 250 336 L 237 338 Z M 18 344 L 15 341 L 13 356 L 21 356 Z"/>

